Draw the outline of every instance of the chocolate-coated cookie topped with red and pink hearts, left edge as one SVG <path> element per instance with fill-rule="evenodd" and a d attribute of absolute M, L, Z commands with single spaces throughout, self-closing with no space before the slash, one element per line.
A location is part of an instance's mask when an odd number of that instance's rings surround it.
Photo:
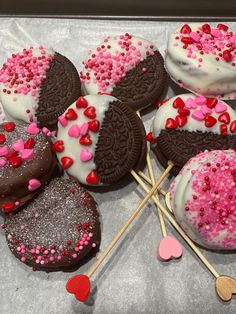
<path fill-rule="evenodd" d="M 10 213 L 30 200 L 55 165 L 52 143 L 35 123 L 0 125 L 0 210 Z"/>

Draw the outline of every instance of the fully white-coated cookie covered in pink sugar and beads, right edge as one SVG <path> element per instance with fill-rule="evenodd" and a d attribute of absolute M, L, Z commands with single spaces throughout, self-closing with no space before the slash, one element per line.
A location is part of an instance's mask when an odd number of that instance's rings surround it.
<path fill-rule="evenodd" d="M 187 235 L 213 250 L 236 249 L 236 153 L 205 151 L 170 187 L 175 217 Z"/>

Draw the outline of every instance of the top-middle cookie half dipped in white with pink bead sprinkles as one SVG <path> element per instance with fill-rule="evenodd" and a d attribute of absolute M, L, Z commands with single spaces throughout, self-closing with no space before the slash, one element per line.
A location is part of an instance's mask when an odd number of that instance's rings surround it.
<path fill-rule="evenodd" d="M 133 110 L 154 104 L 166 85 L 157 47 L 127 33 L 105 38 L 83 63 L 80 78 L 85 95 L 109 94 Z"/>

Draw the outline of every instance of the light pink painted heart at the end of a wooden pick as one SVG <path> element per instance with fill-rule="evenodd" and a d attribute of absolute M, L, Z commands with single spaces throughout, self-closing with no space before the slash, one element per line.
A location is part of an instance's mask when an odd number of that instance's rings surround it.
<path fill-rule="evenodd" d="M 183 250 L 177 239 L 166 236 L 161 240 L 157 254 L 161 260 L 168 261 L 172 258 L 180 258 L 183 254 Z"/>

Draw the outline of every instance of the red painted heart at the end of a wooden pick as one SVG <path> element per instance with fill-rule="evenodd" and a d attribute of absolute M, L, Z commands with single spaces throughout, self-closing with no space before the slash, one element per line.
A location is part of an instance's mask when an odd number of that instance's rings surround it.
<path fill-rule="evenodd" d="M 85 302 L 90 293 L 90 280 L 86 275 L 76 275 L 71 277 L 66 284 L 66 290 L 74 294 L 76 299 Z"/>

